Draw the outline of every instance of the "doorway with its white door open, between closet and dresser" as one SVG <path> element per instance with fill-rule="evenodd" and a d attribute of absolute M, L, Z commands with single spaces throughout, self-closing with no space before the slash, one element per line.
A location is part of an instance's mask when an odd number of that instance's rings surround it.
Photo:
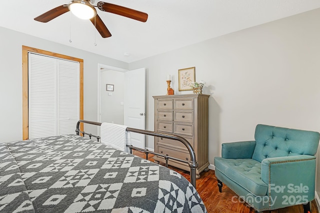
<path fill-rule="evenodd" d="M 145 68 L 126 70 L 98 64 L 97 120 L 145 129 Z M 145 136 L 131 133 L 131 143 L 144 149 Z"/>

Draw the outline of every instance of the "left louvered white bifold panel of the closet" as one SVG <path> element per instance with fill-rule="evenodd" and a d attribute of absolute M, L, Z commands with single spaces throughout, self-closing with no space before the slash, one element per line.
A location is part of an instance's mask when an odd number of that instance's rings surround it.
<path fill-rule="evenodd" d="M 28 54 L 29 138 L 57 134 L 56 59 Z"/>

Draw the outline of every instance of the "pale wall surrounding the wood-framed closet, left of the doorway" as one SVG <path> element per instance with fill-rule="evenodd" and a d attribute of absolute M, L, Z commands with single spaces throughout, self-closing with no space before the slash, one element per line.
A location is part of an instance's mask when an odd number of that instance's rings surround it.
<path fill-rule="evenodd" d="M 122 61 L 0 27 L 1 143 L 22 140 L 22 45 L 83 59 L 85 120 L 97 120 L 98 63 L 128 68 L 128 64 Z M 96 128 L 85 128 L 96 134 Z"/>

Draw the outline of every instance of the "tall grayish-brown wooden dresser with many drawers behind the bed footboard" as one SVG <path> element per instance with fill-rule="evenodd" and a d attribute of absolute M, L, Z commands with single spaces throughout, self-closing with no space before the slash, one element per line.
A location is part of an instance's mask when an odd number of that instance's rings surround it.
<path fill-rule="evenodd" d="M 193 147 L 198 168 L 197 178 L 208 162 L 208 98 L 204 94 L 161 95 L 154 98 L 154 131 L 182 136 Z M 179 141 L 154 137 L 154 151 L 189 160 L 186 147 Z M 162 157 L 153 157 L 155 162 L 165 162 Z M 174 160 L 168 164 L 189 171 L 189 166 Z"/>

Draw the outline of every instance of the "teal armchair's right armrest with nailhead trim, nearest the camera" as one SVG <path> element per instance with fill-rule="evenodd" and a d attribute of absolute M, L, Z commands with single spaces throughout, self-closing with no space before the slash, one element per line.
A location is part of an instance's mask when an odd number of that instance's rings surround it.
<path fill-rule="evenodd" d="M 261 180 L 268 184 L 273 205 L 298 205 L 314 199 L 315 156 L 266 158 L 261 162 Z"/>

